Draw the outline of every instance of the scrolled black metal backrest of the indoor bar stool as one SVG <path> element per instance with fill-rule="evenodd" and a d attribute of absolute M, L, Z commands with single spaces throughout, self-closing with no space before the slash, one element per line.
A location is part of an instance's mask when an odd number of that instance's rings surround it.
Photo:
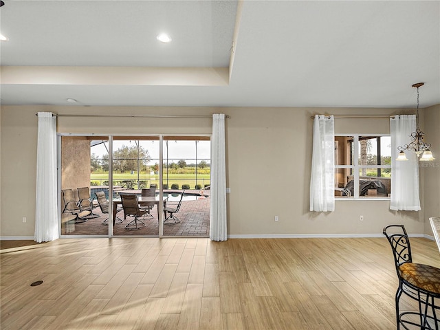
<path fill-rule="evenodd" d="M 399 274 L 399 266 L 404 263 L 412 263 L 411 245 L 404 225 L 387 225 L 384 235 L 393 249 L 394 261 Z"/>

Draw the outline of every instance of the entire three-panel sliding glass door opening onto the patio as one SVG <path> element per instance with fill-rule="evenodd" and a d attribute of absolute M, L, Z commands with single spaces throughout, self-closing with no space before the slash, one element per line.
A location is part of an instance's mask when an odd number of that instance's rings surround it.
<path fill-rule="evenodd" d="M 58 141 L 62 236 L 209 235 L 209 136 L 69 134 Z M 124 212 L 122 195 L 137 196 L 137 217 Z"/>

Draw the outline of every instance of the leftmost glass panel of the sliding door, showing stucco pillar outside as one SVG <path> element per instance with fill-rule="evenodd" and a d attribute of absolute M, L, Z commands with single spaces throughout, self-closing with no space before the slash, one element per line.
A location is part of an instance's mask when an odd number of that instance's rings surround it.
<path fill-rule="evenodd" d="M 108 210 L 97 194 L 109 198 L 109 137 L 61 136 L 61 235 L 107 236 Z M 107 212 L 107 213 L 106 213 Z"/>

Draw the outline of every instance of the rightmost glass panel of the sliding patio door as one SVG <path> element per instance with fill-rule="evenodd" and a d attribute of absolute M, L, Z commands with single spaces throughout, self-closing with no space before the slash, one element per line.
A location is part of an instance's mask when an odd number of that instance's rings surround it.
<path fill-rule="evenodd" d="M 163 155 L 163 235 L 209 236 L 210 137 L 164 136 Z"/>

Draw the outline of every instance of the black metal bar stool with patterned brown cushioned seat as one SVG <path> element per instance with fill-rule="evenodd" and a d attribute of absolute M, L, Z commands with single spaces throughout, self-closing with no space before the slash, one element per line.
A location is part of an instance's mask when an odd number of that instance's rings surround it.
<path fill-rule="evenodd" d="M 397 330 L 440 328 L 440 269 L 430 265 L 412 263 L 410 240 L 404 225 L 387 225 L 384 235 L 393 249 L 399 287 L 395 296 Z M 417 300 L 419 311 L 399 313 L 401 294 Z M 416 319 L 419 322 L 416 322 Z"/>

